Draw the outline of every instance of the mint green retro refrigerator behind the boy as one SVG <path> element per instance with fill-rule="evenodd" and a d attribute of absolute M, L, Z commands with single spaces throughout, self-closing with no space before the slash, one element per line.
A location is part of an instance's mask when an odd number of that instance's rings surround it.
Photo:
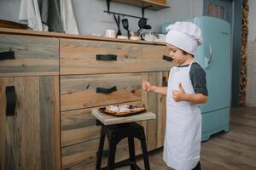
<path fill-rule="evenodd" d="M 200 105 L 202 141 L 213 133 L 230 129 L 231 33 L 225 20 L 201 16 L 188 20 L 199 26 L 204 42 L 197 48 L 195 59 L 207 73 L 207 104 Z M 162 27 L 165 30 L 166 24 Z"/>

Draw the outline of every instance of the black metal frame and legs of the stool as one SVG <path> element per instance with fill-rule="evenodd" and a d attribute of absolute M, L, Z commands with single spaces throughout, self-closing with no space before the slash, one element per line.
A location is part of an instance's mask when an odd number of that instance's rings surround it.
<path fill-rule="evenodd" d="M 123 164 L 115 164 L 115 151 L 116 146 L 122 139 L 128 138 L 129 145 L 129 155 L 130 162 L 128 165 L 131 166 L 131 170 L 141 169 L 136 164 L 135 159 L 135 148 L 134 148 L 134 138 L 137 138 L 141 142 L 141 147 L 143 150 L 143 160 L 145 170 L 150 170 L 148 161 L 148 150 L 146 145 L 146 138 L 143 126 L 137 124 L 136 122 L 128 122 L 116 125 L 103 125 L 101 130 L 101 138 L 96 156 L 96 170 L 100 170 L 102 165 L 102 152 L 104 146 L 105 136 L 108 138 L 108 167 L 107 170 L 113 170 L 116 167 L 124 167 Z"/>

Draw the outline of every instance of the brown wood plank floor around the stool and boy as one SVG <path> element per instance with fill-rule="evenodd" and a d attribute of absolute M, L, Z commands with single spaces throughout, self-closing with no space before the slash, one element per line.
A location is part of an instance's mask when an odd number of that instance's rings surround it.
<path fill-rule="evenodd" d="M 166 166 L 162 154 L 162 148 L 149 153 L 152 170 L 172 170 Z M 137 164 L 143 168 L 142 156 L 137 157 Z M 230 132 L 214 134 L 201 143 L 201 167 L 203 170 L 256 170 L 256 107 L 231 109 Z"/>

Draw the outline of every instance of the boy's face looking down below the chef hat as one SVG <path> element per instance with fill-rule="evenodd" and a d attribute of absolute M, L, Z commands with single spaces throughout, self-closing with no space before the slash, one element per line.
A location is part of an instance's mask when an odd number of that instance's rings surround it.
<path fill-rule="evenodd" d="M 178 65 L 183 64 L 183 62 L 189 58 L 190 54 L 183 54 L 183 51 L 172 44 L 167 44 L 169 54 L 171 55 L 174 62 Z"/>

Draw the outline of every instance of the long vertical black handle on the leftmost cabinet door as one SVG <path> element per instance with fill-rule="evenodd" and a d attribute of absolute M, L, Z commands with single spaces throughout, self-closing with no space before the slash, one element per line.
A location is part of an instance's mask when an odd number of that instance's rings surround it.
<path fill-rule="evenodd" d="M 15 87 L 7 86 L 5 88 L 5 95 L 6 95 L 6 116 L 15 116 L 15 105 L 16 105 Z"/>

